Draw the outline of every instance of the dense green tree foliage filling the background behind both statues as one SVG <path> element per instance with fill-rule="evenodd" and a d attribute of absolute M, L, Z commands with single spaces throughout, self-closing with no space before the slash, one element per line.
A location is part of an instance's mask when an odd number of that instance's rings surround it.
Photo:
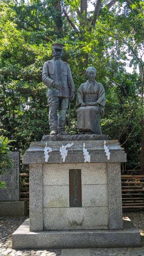
<path fill-rule="evenodd" d="M 31 141 L 40 141 L 49 133 L 41 72 L 44 62 L 53 58 L 51 43 L 58 41 L 66 45 L 63 60 L 70 64 L 76 91 L 85 82 L 87 65 L 96 67 L 96 79 L 106 92 L 103 133 L 124 147 L 128 169 L 139 167 L 143 106 L 141 73 L 134 53 L 144 48 L 144 3 L 136 0 L 130 9 L 121 0 L 109 10 L 103 8 L 108 2 L 102 1 L 99 18 L 92 26 L 93 13 L 88 12 L 85 20 L 80 17 L 81 1 L 60 1 L 62 10 L 66 9 L 81 30 L 78 35 L 64 15 L 60 17 L 55 8 L 58 1 L 0 1 L 0 128 L 4 137 L 15 140 L 13 149 L 21 155 Z M 126 70 L 127 62 L 132 73 Z M 75 102 L 76 97 L 71 104 L 71 134 L 77 133 Z"/>

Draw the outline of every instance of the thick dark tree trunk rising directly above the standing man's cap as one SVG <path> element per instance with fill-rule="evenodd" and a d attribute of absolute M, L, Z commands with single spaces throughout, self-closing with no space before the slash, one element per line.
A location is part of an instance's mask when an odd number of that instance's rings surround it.
<path fill-rule="evenodd" d="M 55 31 L 58 38 L 63 38 L 63 18 L 62 18 L 62 10 L 61 10 L 61 1 L 54 1 L 54 8 L 56 11 L 56 15 L 54 18 L 55 21 Z"/>

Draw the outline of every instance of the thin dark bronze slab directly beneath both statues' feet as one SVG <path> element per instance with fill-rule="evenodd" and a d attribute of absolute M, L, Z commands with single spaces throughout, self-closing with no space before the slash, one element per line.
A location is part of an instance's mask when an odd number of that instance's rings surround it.
<path fill-rule="evenodd" d="M 105 134 L 69 134 L 69 135 L 44 135 L 42 142 L 56 141 L 103 141 L 108 140 Z"/>

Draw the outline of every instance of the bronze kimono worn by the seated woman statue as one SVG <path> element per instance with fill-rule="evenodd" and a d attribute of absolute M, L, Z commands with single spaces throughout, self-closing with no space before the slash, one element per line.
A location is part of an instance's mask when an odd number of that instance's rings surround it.
<path fill-rule="evenodd" d="M 86 106 L 81 106 L 85 103 Z M 103 85 L 95 80 L 81 84 L 77 92 L 77 129 L 80 132 L 102 134 L 100 117 L 104 115 L 105 92 Z"/>

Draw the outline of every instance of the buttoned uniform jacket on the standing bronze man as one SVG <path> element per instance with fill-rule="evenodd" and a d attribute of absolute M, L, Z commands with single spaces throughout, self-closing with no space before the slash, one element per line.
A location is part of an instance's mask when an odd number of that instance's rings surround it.
<path fill-rule="evenodd" d="M 47 86 L 47 97 L 62 96 L 69 98 L 70 88 L 71 92 L 75 91 L 71 69 L 67 62 L 62 61 L 61 59 L 52 59 L 45 62 L 42 71 L 42 81 Z M 54 88 L 53 82 L 58 82 L 63 88 L 61 90 Z"/>

